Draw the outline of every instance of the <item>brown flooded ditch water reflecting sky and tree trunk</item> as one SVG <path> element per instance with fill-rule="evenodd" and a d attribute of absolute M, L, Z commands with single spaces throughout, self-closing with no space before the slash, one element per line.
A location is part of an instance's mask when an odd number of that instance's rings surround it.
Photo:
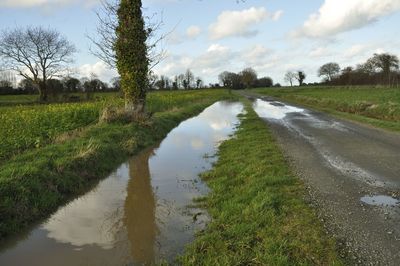
<path fill-rule="evenodd" d="M 173 262 L 209 220 L 193 207 L 207 194 L 199 174 L 243 112 L 218 102 L 157 146 L 122 164 L 96 188 L 0 247 L 0 265 L 151 265 Z M 191 206 L 192 205 L 192 206 Z"/>

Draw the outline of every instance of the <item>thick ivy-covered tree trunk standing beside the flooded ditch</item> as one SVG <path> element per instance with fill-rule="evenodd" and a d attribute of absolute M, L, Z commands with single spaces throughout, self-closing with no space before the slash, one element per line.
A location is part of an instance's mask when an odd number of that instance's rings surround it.
<path fill-rule="evenodd" d="M 121 0 L 118 23 L 115 52 L 125 109 L 133 117 L 141 117 L 145 112 L 149 70 L 142 1 Z"/>

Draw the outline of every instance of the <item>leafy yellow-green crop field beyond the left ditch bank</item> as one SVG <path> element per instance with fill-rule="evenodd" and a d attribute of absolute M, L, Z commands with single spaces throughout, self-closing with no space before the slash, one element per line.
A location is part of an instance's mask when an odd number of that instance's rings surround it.
<path fill-rule="evenodd" d="M 148 95 L 151 113 L 189 106 L 225 94 L 221 90 L 153 92 Z M 99 93 L 97 100 L 81 103 L 0 107 L 0 163 L 29 149 L 48 145 L 62 133 L 97 123 L 108 105 L 123 105 L 116 93 Z M 4 97 L 4 96 L 3 96 Z M 14 98 L 25 95 L 12 96 Z"/>

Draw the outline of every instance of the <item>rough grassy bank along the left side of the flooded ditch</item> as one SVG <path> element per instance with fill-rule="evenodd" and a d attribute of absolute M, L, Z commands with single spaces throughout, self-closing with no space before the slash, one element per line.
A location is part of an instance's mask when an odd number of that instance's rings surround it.
<path fill-rule="evenodd" d="M 182 120 L 233 96 L 225 93 L 157 112 L 146 125 L 98 124 L 83 135 L 16 155 L 0 169 L 0 241 L 86 192 L 120 163 L 160 141 Z"/>

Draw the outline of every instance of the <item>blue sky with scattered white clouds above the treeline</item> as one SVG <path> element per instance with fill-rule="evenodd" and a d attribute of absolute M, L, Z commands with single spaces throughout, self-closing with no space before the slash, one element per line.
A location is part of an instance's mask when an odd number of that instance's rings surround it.
<path fill-rule="evenodd" d="M 252 67 L 283 85 L 287 71 L 302 70 L 306 82 L 316 82 L 324 63 L 344 68 L 374 53 L 400 57 L 400 0 L 143 0 L 143 7 L 167 34 L 157 75 L 190 69 L 208 84 L 223 71 Z M 54 28 L 78 49 L 78 77 L 109 81 L 117 72 L 89 52 L 98 8 L 99 0 L 0 0 L 0 30 Z"/>

